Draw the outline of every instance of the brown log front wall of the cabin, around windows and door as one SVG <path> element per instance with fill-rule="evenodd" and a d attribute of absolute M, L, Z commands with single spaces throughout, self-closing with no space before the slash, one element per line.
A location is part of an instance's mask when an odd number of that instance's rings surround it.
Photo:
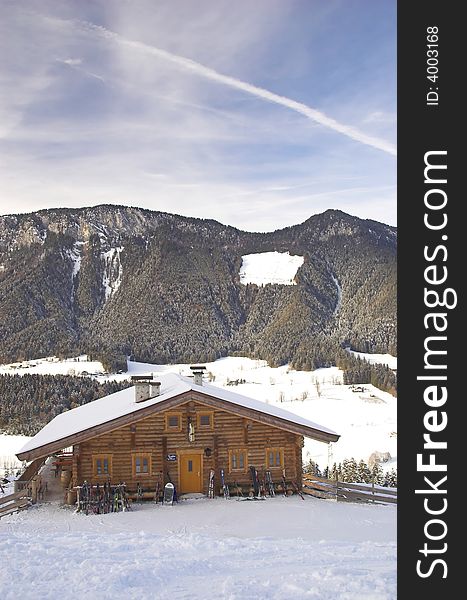
<path fill-rule="evenodd" d="M 296 480 L 300 485 L 303 436 L 207 406 L 193 397 L 166 412 L 180 414 L 181 431 L 166 430 L 166 413 L 163 412 L 75 446 L 73 484 L 80 485 L 84 480 L 92 483 L 107 481 L 107 476 L 96 476 L 93 473 L 93 456 L 101 454 L 111 456 L 112 483 L 123 481 L 130 491 L 136 489 L 138 482 L 143 489 L 154 489 L 158 478 L 164 484 L 168 481 L 167 473 L 169 473 L 171 480 L 179 489 L 179 457 L 173 462 L 167 461 L 166 457 L 167 454 L 177 454 L 179 451 L 186 452 L 192 449 L 203 450 L 203 492 L 207 492 L 211 469 L 216 472 L 216 492 L 218 492 L 219 469 L 224 469 L 228 483 L 235 481 L 240 485 L 248 486 L 251 483 L 248 465 L 254 465 L 258 471 L 261 471 L 266 467 L 266 448 L 283 448 L 286 477 L 288 480 Z M 212 430 L 198 426 L 199 412 L 213 413 Z M 191 442 L 188 439 L 189 419 L 195 423 L 195 440 Z M 205 452 L 207 448 L 210 449 L 209 456 L 209 451 Z M 229 473 L 229 450 L 235 449 L 247 450 L 246 470 Z M 150 473 L 134 475 L 133 454 L 150 456 Z M 281 468 L 271 468 L 271 473 L 275 482 L 280 481 Z"/>

